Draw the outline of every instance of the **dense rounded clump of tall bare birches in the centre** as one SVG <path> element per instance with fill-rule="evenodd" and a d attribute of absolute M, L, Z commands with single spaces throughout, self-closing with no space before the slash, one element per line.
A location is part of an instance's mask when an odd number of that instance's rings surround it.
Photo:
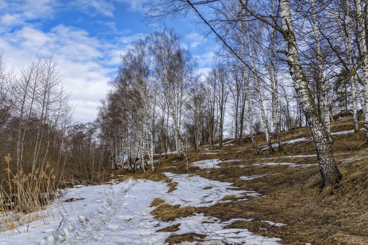
<path fill-rule="evenodd" d="M 133 170 L 139 159 L 145 171 L 148 155 L 155 170 L 156 152 L 159 161 L 169 149 L 176 149 L 179 159 L 186 157 L 182 121 L 188 91 L 198 81 L 197 63 L 173 30 L 156 31 L 131 46 L 121 56 L 98 122 L 111 147 L 113 168 L 126 161 Z"/>

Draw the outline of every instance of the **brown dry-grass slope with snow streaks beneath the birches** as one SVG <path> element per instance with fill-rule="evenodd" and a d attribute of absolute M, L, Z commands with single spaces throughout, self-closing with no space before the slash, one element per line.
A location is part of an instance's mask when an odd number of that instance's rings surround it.
<path fill-rule="evenodd" d="M 345 119 L 333 122 L 331 131 L 351 129 L 351 119 Z M 282 134 L 284 141 L 310 136 L 308 128 L 297 129 L 293 133 L 283 132 Z M 220 163 L 219 166 L 223 167 L 217 169 L 198 169 L 198 167 L 189 166 L 187 171 L 186 162 L 178 161 L 175 154 L 170 154 L 169 158 L 164 160 L 161 165 L 156 165 L 156 173 L 148 170 L 144 174 L 142 170 L 138 170 L 132 174 L 124 174 L 136 178 L 164 180 L 170 183 L 171 180 L 160 172 L 190 172 L 208 179 L 234 183 L 234 186 L 240 187 L 239 190 L 252 190 L 266 195 L 265 197 L 249 197 L 247 201 L 217 203 L 209 208 L 179 208 L 155 199 L 152 206 L 157 206 L 157 208 L 153 214 L 162 220 L 173 220 L 193 212 L 219 217 L 223 221 L 238 217 L 252 218 L 253 221 L 236 221 L 229 228 L 247 228 L 256 234 L 279 237 L 282 238 L 281 243 L 284 244 L 304 245 L 306 242 L 311 242 L 313 245 L 368 244 L 368 147 L 363 144 L 365 142 L 364 130 L 360 130 L 358 133 L 336 135 L 333 136 L 333 140 L 334 153 L 348 153 L 335 155 L 335 160 L 344 177 L 339 184 L 326 188 L 323 192 L 321 192 L 321 177 L 317 165 L 307 167 L 253 165 L 265 162 L 315 164 L 317 163 L 316 157 L 283 157 L 315 154 L 312 141 L 285 145 L 285 152 L 275 155 L 263 151 L 261 156 L 255 159 L 255 156 L 249 151 L 251 148 L 250 139 L 246 138 L 240 147 L 225 146 L 221 151 L 210 151 L 216 152 L 216 154 L 203 154 L 209 152 L 205 149 L 188 149 L 190 163 L 216 158 L 245 159 L 245 161 Z M 258 137 L 257 143 L 258 146 L 265 145 L 263 136 Z M 343 159 L 353 157 L 362 159 L 342 163 Z M 233 167 L 234 165 L 247 165 L 247 167 Z M 168 166 L 176 167 L 164 169 Z M 252 180 L 239 179 L 240 176 L 272 173 L 275 174 Z M 122 174 L 121 169 L 115 171 L 114 174 Z M 175 183 L 170 185 L 175 188 Z M 225 199 L 236 201 L 237 198 L 228 196 Z M 261 222 L 261 220 L 286 223 L 288 226 L 274 227 Z M 176 227 L 169 227 L 169 229 L 175 230 Z M 173 244 L 179 241 L 194 241 L 193 237 L 198 237 L 198 234 L 172 236 L 167 242 Z"/>

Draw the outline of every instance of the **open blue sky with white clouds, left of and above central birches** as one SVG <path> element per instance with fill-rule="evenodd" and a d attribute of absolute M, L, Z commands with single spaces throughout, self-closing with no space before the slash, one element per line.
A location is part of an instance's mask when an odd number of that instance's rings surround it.
<path fill-rule="evenodd" d="M 120 54 L 130 43 L 159 28 L 144 18 L 148 0 L 0 0 L 0 52 L 17 71 L 37 55 L 54 54 L 65 73 L 65 86 L 78 104 L 75 120 L 96 117 L 99 100 L 117 72 Z M 213 42 L 199 36 L 190 19 L 167 19 L 183 35 L 184 45 L 207 71 Z"/>

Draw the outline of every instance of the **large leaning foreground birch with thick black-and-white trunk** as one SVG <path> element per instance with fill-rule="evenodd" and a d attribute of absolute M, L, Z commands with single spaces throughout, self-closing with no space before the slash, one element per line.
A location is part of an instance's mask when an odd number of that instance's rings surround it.
<path fill-rule="evenodd" d="M 318 155 L 318 163 L 322 176 L 322 186 L 325 188 L 328 185 L 336 184 L 342 178 L 341 173 L 337 169 L 335 159 L 333 158 L 332 148 L 330 145 L 330 140 L 328 132 L 325 125 L 322 122 L 321 115 L 319 115 L 315 101 L 313 100 L 311 91 L 308 87 L 307 80 L 300 62 L 298 44 L 296 36 L 294 34 L 294 23 L 290 11 L 289 0 L 280 0 L 279 2 L 279 14 L 280 17 L 269 15 L 267 12 L 264 14 L 263 11 L 266 10 L 264 6 L 259 8 L 258 6 L 252 6 L 250 2 L 244 2 L 243 0 L 238 0 L 241 6 L 241 12 L 239 16 L 251 18 L 255 21 L 261 21 L 264 24 L 270 26 L 279 32 L 285 41 L 285 49 L 279 50 L 279 52 L 285 54 L 286 62 L 289 66 L 290 76 L 293 80 L 293 86 L 296 90 L 297 96 L 302 105 L 304 114 L 307 117 L 309 128 L 311 130 L 312 137 L 316 146 L 316 152 Z M 191 1 L 162 1 L 161 4 L 151 5 L 151 17 L 161 17 L 164 18 L 167 15 L 175 14 L 178 11 L 179 14 L 186 14 L 189 10 L 193 10 L 199 18 L 208 24 L 213 32 L 216 31 L 212 28 L 208 21 L 199 13 L 195 7 L 198 4 L 207 4 L 207 2 L 191 2 Z M 179 7 L 180 6 L 180 7 Z M 358 9 L 358 8 L 357 8 Z M 362 11 L 358 11 L 362 13 Z M 277 20 L 278 19 L 278 20 Z M 234 22 L 234 18 L 226 20 L 229 22 Z M 219 38 L 221 36 L 218 35 Z M 363 35 L 362 35 L 363 36 Z M 227 44 L 228 48 L 231 47 Z M 234 54 L 235 51 L 234 51 Z M 239 57 L 240 58 L 240 57 Z M 240 59 L 241 60 L 241 59 Z M 367 69 L 368 71 L 368 69 Z M 367 73 L 368 74 L 368 73 Z M 368 83 L 367 83 L 368 86 Z M 368 87 L 367 87 L 368 91 Z M 368 120 L 368 114 L 367 114 Z M 368 122 L 368 121 L 367 121 Z"/>

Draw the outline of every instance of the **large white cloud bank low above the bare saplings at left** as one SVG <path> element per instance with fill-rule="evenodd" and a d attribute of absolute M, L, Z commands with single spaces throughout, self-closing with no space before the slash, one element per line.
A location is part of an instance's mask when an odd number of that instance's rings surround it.
<path fill-rule="evenodd" d="M 107 82 L 116 74 L 119 55 L 127 47 L 120 49 L 90 37 L 85 30 L 64 25 L 50 32 L 25 26 L 0 36 L 0 50 L 15 69 L 26 66 L 38 54 L 55 55 L 61 73 L 66 75 L 64 85 L 72 90 L 71 102 L 78 104 L 75 120 L 82 122 L 95 119 L 99 100 L 105 97 Z"/>

